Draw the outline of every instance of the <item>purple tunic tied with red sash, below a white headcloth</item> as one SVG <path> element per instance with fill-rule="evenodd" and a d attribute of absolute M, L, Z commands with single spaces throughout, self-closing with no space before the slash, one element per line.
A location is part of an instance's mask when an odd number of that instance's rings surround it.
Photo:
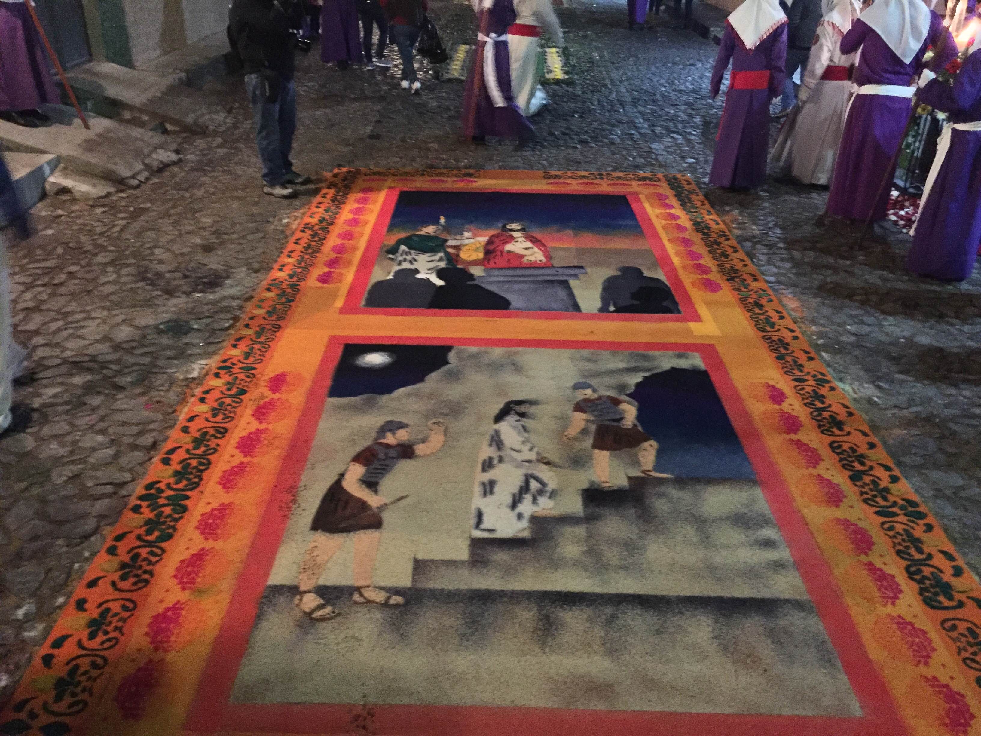
<path fill-rule="evenodd" d="M 730 87 L 726 92 L 708 183 L 713 186 L 753 188 L 766 180 L 770 100 L 780 94 L 786 78 L 787 24 L 772 31 L 752 51 L 748 51 L 727 23 L 712 70 L 713 98 L 722 87 L 722 76 L 730 59 L 734 73 L 768 71 L 769 85 L 766 89 Z"/>

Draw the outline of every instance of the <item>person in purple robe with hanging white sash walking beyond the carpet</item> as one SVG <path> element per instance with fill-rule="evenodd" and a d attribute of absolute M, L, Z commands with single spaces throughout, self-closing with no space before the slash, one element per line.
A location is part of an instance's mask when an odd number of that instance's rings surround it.
<path fill-rule="evenodd" d="M 518 18 L 513 0 L 473 0 L 481 19 L 477 54 L 483 70 L 477 77 L 477 63 L 471 65 L 463 95 L 463 129 L 474 142 L 488 135 L 517 138 L 519 147 L 534 142 L 535 129 L 515 102 L 511 90 L 511 60 L 507 29 Z"/>

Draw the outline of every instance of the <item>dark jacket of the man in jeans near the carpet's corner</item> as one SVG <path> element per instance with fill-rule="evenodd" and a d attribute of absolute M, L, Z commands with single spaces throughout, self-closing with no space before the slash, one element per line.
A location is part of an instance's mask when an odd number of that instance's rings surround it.
<path fill-rule="evenodd" d="M 271 69 L 292 79 L 296 68 L 293 29 L 302 20 L 303 7 L 295 0 L 232 0 L 229 42 L 245 74 Z"/>

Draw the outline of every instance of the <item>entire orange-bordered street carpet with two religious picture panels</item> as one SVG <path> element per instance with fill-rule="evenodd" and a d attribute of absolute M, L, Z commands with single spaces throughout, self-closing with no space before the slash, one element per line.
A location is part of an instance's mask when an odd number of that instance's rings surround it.
<path fill-rule="evenodd" d="M 0 734 L 981 733 L 977 580 L 686 177 L 336 171 L 108 540 Z"/>

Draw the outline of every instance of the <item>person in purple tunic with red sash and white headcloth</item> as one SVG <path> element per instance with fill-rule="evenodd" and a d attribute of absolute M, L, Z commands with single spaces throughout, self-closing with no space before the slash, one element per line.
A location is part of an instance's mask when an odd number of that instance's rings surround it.
<path fill-rule="evenodd" d="M 708 183 L 750 189 L 766 179 L 770 100 L 784 87 L 787 16 L 777 0 L 746 0 L 728 19 L 712 70 L 711 95 L 732 60 Z"/>

